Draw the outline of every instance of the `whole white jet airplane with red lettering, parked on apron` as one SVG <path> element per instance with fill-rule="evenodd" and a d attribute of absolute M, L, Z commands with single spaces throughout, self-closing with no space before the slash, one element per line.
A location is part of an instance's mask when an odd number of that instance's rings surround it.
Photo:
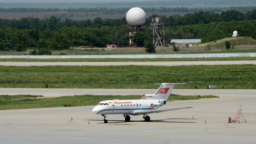
<path fill-rule="evenodd" d="M 142 96 L 142 99 L 135 100 L 119 100 L 119 99 L 111 99 L 109 101 L 101 101 L 97 106 L 93 108 L 93 112 L 96 114 L 104 116 L 104 122 L 108 123 L 106 119 L 106 115 L 111 114 L 122 114 L 124 115 L 125 121 L 130 121 L 129 115 L 143 115 L 143 119 L 149 122 L 150 117 L 147 115 L 148 113 L 159 113 L 166 112 L 172 110 L 182 110 L 192 107 L 184 107 L 184 108 L 171 108 L 171 109 L 163 109 L 158 110 L 163 106 L 174 85 L 184 85 L 186 83 L 162 83 L 161 86 L 154 94 L 146 94 Z M 91 108 L 91 107 L 87 107 Z"/>

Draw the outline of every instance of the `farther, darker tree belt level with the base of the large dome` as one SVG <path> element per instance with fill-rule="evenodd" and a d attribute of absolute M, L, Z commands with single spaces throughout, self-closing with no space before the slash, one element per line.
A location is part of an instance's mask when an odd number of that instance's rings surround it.
<path fill-rule="evenodd" d="M 221 14 L 213 12 L 196 12 L 188 13 L 184 16 L 158 16 L 152 15 L 146 20 L 146 25 L 150 25 L 152 17 L 161 17 L 165 23 L 165 27 L 174 27 L 180 25 L 193 25 L 198 23 L 211 23 L 211 22 L 232 22 L 232 21 L 247 21 L 256 20 L 256 9 L 241 13 L 238 11 L 230 10 L 222 12 Z M 17 29 L 37 29 L 37 30 L 56 30 L 62 27 L 78 27 L 78 28 L 100 28 L 103 26 L 115 27 L 126 24 L 125 17 L 119 19 L 102 19 L 95 18 L 94 20 L 81 20 L 75 21 L 69 18 L 61 19 L 56 16 L 51 16 L 46 19 L 39 18 L 21 18 L 20 20 L 7 20 L 0 19 L 0 29 L 4 28 L 17 28 Z"/>

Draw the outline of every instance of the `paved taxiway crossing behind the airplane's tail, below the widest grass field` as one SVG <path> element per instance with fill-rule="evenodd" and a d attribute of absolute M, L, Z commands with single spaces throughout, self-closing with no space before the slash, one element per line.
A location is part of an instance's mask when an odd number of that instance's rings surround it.
<path fill-rule="evenodd" d="M 157 89 L 86 89 L 86 88 L 0 88 L 0 95 L 43 95 L 45 97 L 59 97 L 66 95 L 143 95 L 154 94 Z M 254 95 L 256 90 L 226 90 L 226 89 L 173 89 L 172 94 L 180 95 L 219 95 L 243 96 Z"/>

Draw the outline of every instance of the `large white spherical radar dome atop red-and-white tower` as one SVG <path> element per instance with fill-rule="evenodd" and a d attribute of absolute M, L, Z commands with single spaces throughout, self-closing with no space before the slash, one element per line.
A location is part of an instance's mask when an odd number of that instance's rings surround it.
<path fill-rule="evenodd" d="M 143 25 L 146 22 L 146 13 L 139 7 L 133 7 L 126 13 L 128 25 Z"/>

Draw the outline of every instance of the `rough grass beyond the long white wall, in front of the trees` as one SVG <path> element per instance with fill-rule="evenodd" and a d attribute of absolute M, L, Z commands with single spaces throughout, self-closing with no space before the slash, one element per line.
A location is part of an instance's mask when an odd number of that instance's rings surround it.
<path fill-rule="evenodd" d="M 238 39 L 237 39 L 238 40 Z M 255 40 L 256 41 L 256 40 Z M 242 42 L 241 42 L 242 43 Z M 156 53 L 154 54 L 211 54 L 211 53 L 248 53 L 256 52 L 256 44 L 245 44 L 235 45 L 234 49 L 227 50 L 224 45 L 213 46 L 214 42 L 211 43 L 211 50 L 207 50 L 206 45 L 202 47 L 189 47 L 179 48 L 179 52 L 174 52 L 172 47 L 156 47 Z M 231 43 L 231 45 L 233 45 Z M 28 52 L 31 49 L 26 50 Z M 0 55 L 27 55 L 27 52 L 17 51 L 0 51 Z M 68 49 L 68 50 L 52 50 L 52 55 L 117 55 L 117 54 L 148 54 L 145 52 L 145 48 L 129 48 L 123 47 L 118 49 L 105 49 L 105 48 L 89 48 L 89 49 Z"/>

